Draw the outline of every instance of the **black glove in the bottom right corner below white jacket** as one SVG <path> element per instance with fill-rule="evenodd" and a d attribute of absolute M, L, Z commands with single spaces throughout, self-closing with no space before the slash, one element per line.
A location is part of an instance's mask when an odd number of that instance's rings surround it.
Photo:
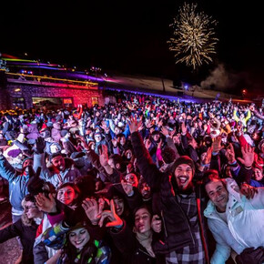
<path fill-rule="evenodd" d="M 238 264 L 262 264 L 264 261 L 264 248 L 259 247 L 258 249 L 248 248 L 244 249 L 243 252 L 236 257 Z"/>

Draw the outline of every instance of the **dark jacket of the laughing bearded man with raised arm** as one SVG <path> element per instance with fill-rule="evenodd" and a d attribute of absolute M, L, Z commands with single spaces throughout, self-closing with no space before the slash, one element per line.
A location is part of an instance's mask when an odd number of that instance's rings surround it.
<path fill-rule="evenodd" d="M 164 232 L 162 238 L 153 241 L 153 250 L 156 254 L 167 254 L 176 249 L 182 249 L 194 243 L 194 235 L 191 232 L 188 218 L 180 207 L 175 197 L 174 187 L 170 175 L 162 173 L 152 162 L 143 140 L 137 132 L 131 135 L 132 145 L 137 157 L 137 166 L 141 175 L 146 179 L 148 186 L 157 193 L 157 204 L 154 214 L 159 214 L 163 220 Z M 196 188 L 198 205 L 199 228 L 203 240 L 205 252 L 208 253 L 205 218 L 203 210 L 207 205 L 207 198 L 201 188 Z"/>

